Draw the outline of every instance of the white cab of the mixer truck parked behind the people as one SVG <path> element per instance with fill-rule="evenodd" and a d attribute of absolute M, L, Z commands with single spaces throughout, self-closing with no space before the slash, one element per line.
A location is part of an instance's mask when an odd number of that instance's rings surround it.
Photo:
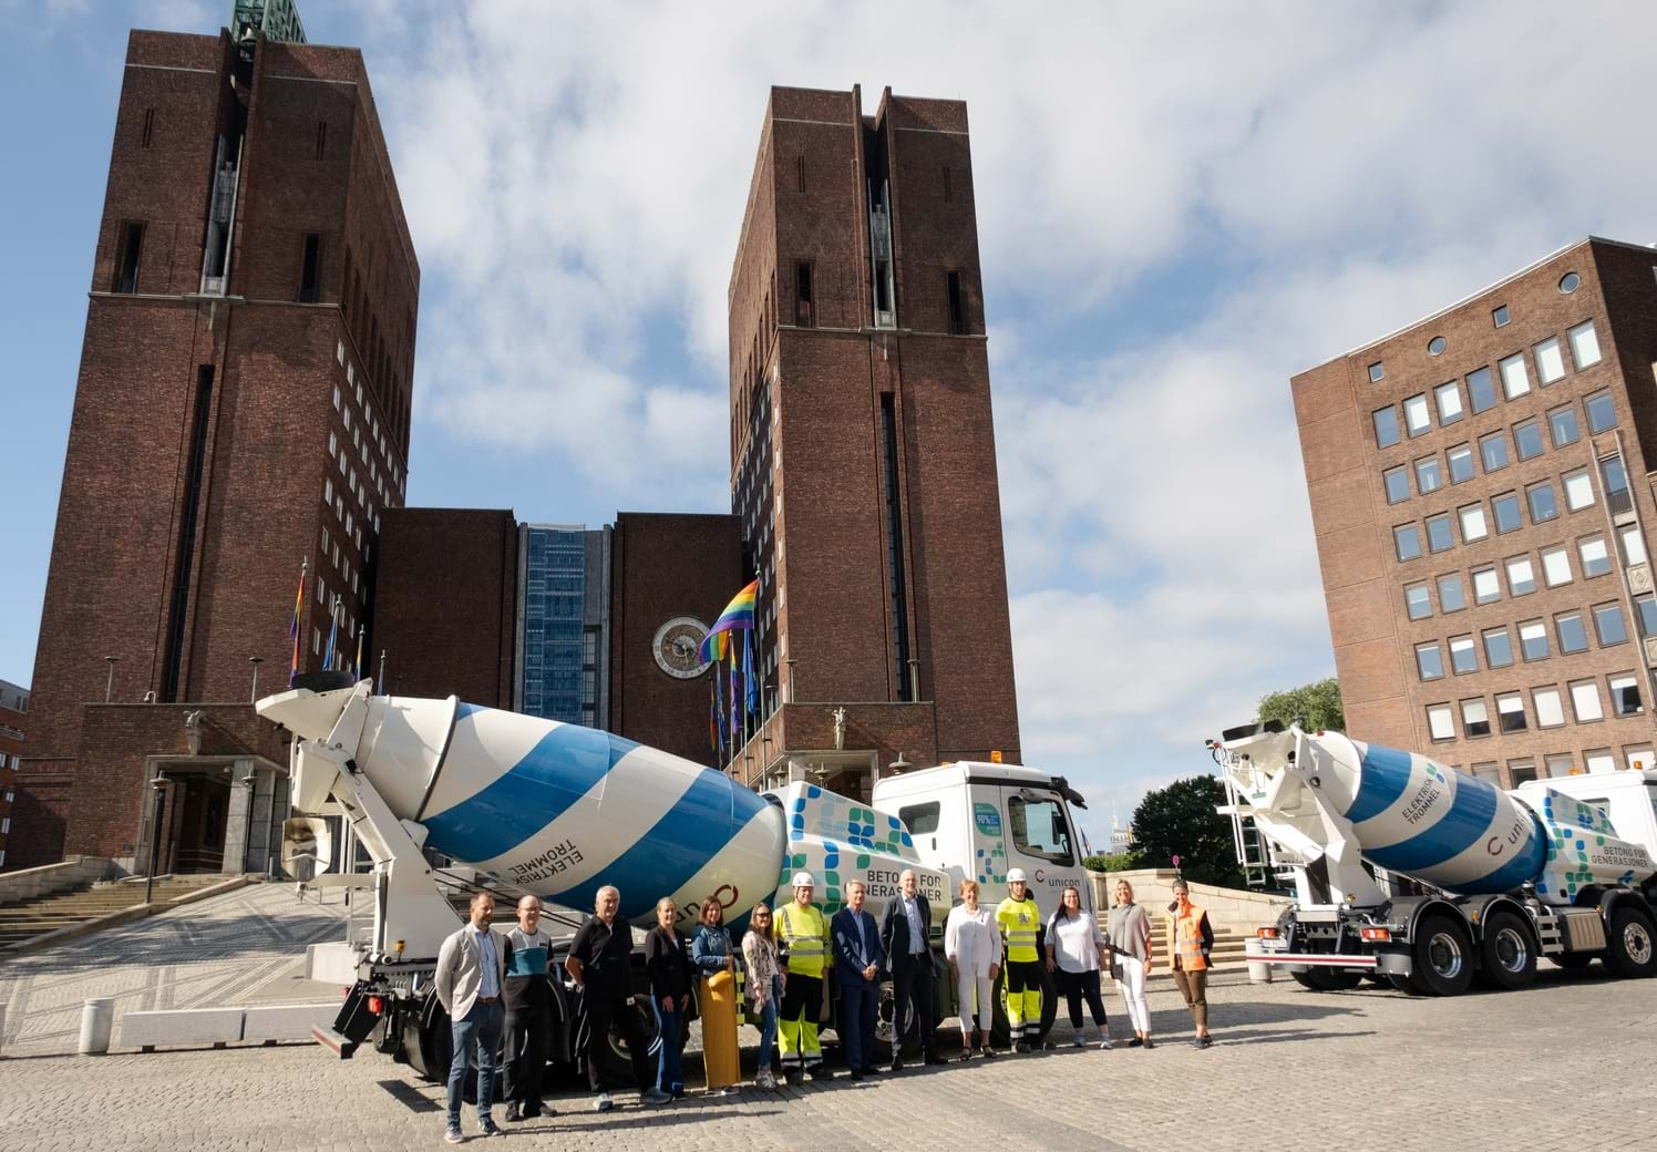
<path fill-rule="evenodd" d="M 875 784 L 875 807 L 898 817 L 921 864 L 951 879 L 940 915 L 959 902 L 961 880 L 978 880 L 979 900 L 1007 895 L 1007 869 L 1022 869 L 1042 915 L 1052 915 L 1065 885 L 1094 912 L 1070 807 L 1085 807 L 1062 776 L 1021 764 L 958 761 L 891 776 Z M 935 902 L 935 910 L 938 903 Z"/>

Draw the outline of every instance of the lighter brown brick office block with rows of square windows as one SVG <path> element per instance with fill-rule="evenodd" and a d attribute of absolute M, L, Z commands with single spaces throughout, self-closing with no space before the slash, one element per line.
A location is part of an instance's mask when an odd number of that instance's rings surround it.
<path fill-rule="evenodd" d="M 1587 239 L 1294 378 L 1350 733 L 1652 766 L 1657 250 Z"/>

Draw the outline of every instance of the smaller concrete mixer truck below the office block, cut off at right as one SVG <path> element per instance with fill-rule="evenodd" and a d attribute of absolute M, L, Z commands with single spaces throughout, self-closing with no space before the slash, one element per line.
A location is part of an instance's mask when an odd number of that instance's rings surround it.
<path fill-rule="evenodd" d="M 1261 930 L 1259 960 L 1304 986 L 1523 988 L 1543 956 L 1657 973 L 1657 771 L 1501 791 L 1425 756 L 1274 721 L 1210 746 L 1229 794 L 1221 811 L 1266 837 L 1296 888 Z"/>

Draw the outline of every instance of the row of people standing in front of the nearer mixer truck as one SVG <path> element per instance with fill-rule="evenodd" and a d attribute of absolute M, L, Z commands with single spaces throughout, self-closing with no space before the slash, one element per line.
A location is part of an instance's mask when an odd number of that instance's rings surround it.
<path fill-rule="evenodd" d="M 920 1028 L 921 1058 L 943 1064 L 936 1049 L 933 1006 L 933 961 L 930 943 L 931 905 L 918 890 L 913 870 L 898 880 L 898 893 L 877 920 L 865 910 L 862 880 L 847 882 L 845 907 L 832 917 L 812 897 L 815 880 L 809 872 L 792 879 L 794 898 L 772 908 L 759 903 L 749 913 L 741 943 L 724 925 L 724 908 L 709 900 L 701 907 L 694 933 L 686 938 L 676 927 L 679 908 L 671 898 L 656 903 L 656 925 L 645 937 L 645 970 L 650 1006 L 658 1039 L 646 1034 L 645 1021 L 633 1009 L 633 928 L 620 915 L 621 893 L 603 887 L 588 917 L 570 941 L 563 970 L 582 991 L 585 1023 L 583 1051 L 595 1107 L 610 1111 L 615 1102 L 605 1087 L 601 1051 L 615 1024 L 626 1041 L 640 1099 L 666 1104 L 684 1096 L 679 1049 L 689 1023 L 691 993 L 701 981 L 698 1008 L 703 1021 L 703 1064 L 708 1089 L 734 1091 L 739 1079 L 737 1003 L 752 1006 L 761 1021 L 759 1072 L 756 1086 L 777 1086 L 772 1059 L 782 1077 L 799 1084 L 810 1076 L 827 1077 L 822 1041 L 817 1034 L 825 981 L 832 976 L 840 993 L 838 1033 L 853 1081 L 880 1069 L 877 1023 L 882 978 L 891 980 L 890 1071 L 903 1069 L 903 1046 L 910 1019 Z M 1007 1024 L 1016 1053 L 1031 1051 L 1041 1039 L 1042 970 L 1064 993 L 1072 1043 L 1110 1049 L 1110 1033 L 1100 996 L 1100 973 L 1110 970 L 1122 990 L 1133 1026 L 1130 1046 L 1155 1048 L 1150 1011 L 1145 1004 L 1145 976 L 1152 965 L 1152 922 L 1133 902 L 1127 880 L 1115 883 L 1115 905 L 1109 927 L 1082 907 L 1072 885 L 1060 893 L 1059 908 L 1046 922 L 1019 869 L 1007 872 L 1007 898 L 996 908 L 979 903 L 976 880 L 961 882 L 961 902 L 944 923 L 944 956 L 956 983 L 961 1016 L 961 1056 L 993 1058 L 989 1043 L 993 990 L 1006 968 Z M 1183 880 L 1175 882 L 1170 905 L 1168 950 L 1175 983 L 1196 1023 L 1196 1048 L 1208 1048 L 1206 976 L 1213 928 L 1203 910 L 1191 903 Z M 502 1132 L 492 1117 L 495 1053 L 505 1034 L 504 1097 L 507 1121 L 552 1116 L 542 1102 L 542 1074 L 547 1067 L 553 1021 L 553 993 L 548 978 L 550 937 L 540 928 L 542 905 L 524 897 L 517 925 L 505 933 L 490 930 L 494 898 L 472 897 L 469 922 L 442 943 L 437 956 L 436 995 L 449 1013 L 452 1062 L 447 1086 L 447 1130 L 444 1139 L 459 1144 L 461 1097 L 469 1058 L 477 1062 L 477 1121 L 484 1135 Z M 1046 955 L 1044 955 L 1046 953 Z M 1094 1036 L 1084 1036 L 1082 1004 L 1087 1004 Z"/>

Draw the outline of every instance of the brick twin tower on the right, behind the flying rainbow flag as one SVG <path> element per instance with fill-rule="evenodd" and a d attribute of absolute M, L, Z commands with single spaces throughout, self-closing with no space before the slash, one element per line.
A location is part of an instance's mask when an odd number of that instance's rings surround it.
<path fill-rule="evenodd" d="M 1019 758 L 966 104 L 772 88 L 731 277 L 731 491 L 764 723 L 852 794 Z M 842 711 L 843 709 L 843 711 Z M 837 721 L 838 713 L 838 721 Z"/>

